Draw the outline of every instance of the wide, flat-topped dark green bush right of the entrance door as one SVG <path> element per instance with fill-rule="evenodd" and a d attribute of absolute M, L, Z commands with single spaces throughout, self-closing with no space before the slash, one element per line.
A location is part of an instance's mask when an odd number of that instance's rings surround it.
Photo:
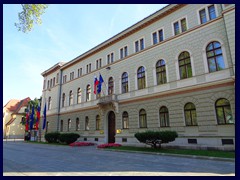
<path fill-rule="evenodd" d="M 162 143 L 169 143 L 178 137 L 176 131 L 146 131 L 138 132 L 134 135 L 141 143 L 151 145 L 153 148 L 157 148 L 157 145 L 161 147 Z"/>

